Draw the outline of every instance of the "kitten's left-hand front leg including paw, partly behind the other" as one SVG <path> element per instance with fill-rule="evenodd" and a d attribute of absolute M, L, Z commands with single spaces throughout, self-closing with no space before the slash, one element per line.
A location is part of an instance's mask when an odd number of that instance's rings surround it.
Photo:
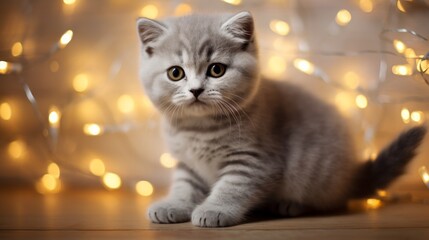
<path fill-rule="evenodd" d="M 154 223 L 187 222 L 195 206 L 204 200 L 208 192 L 204 181 L 186 165 L 179 163 L 168 196 L 149 207 L 149 219 Z"/>

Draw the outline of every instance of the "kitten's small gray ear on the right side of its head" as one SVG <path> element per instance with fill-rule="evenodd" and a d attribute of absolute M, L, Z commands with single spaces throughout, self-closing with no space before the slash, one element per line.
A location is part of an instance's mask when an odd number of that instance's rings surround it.
<path fill-rule="evenodd" d="M 253 18 L 249 12 L 240 12 L 222 24 L 221 30 L 239 42 L 249 42 L 253 38 Z"/>

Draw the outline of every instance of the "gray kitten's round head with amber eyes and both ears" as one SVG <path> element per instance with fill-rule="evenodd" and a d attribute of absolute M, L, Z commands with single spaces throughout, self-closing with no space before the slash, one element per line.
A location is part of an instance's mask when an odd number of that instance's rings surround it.
<path fill-rule="evenodd" d="M 254 97 L 259 70 L 250 13 L 140 18 L 137 25 L 140 75 L 161 112 L 222 114 Z"/>

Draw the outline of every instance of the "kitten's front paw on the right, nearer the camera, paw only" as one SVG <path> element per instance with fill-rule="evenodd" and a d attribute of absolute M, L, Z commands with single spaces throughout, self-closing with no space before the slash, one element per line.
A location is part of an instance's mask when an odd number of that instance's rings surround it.
<path fill-rule="evenodd" d="M 202 204 L 192 212 L 192 224 L 198 227 L 227 227 L 236 225 L 242 216 L 234 216 L 221 206 Z"/>

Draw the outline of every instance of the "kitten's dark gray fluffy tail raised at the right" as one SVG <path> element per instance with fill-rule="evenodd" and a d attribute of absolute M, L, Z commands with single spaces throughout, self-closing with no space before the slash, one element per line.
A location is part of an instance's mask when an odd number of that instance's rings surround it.
<path fill-rule="evenodd" d="M 426 127 L 413 127 L 384 148 L 374 161 L 367 161 L 358 173 L 353 197 L 371 196 L 377 190 L 385 189 L 402 175 L 407 164 L 416 155 L 416 148 L 425 134 Z"/>

